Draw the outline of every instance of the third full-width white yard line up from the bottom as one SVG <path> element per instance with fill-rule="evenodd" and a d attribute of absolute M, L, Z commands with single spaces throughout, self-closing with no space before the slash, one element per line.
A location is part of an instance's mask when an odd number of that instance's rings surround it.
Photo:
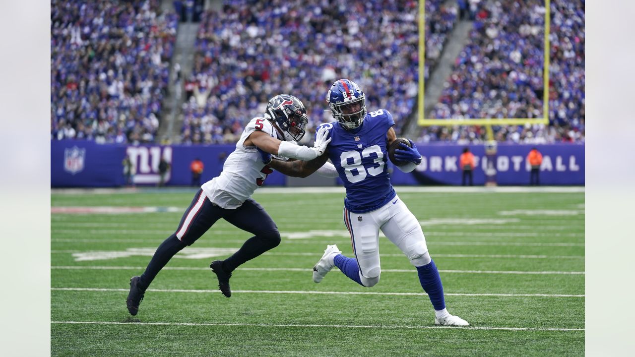
<path fill-rule="evenodd" d="M 94 269 L 94 270 L 144 270 L 145 267 L 128 266 L 51 266 L 51 269 Z M 210 270 L 207 267 L 164 267 L 163 270 Z M 239 267 L 243 271 L 313 271 L 311 268 L 270 268 Z M 416 269 L 382 269 L 384 273 L 415 273 Z M 439 273 L 459 274 L 547 274 L 547 275 L 584 275 L 584 271 L 497 271 L 497 270 L 439 270 Z"/>

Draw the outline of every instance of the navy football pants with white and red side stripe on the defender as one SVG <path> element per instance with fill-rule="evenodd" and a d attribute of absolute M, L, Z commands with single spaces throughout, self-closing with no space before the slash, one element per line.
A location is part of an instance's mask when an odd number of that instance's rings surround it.
<path fill-rule="evenodd" d="M 199 189 L 185 210 L 177 231 L 161 243 L 154 253 L 141 276 L 141 287 L 145 290 L 171 257 L 201 238 L 219 219 L 225 219 L 243 231 L 254 234 L 234 255 L 224 260 L 223 269 L 227 273 L 280 244 L 280 233 L 274 220 L 256 201 L 250 198 L 239 208 L 227 210 L 211 203 L 203 190 Z"/>

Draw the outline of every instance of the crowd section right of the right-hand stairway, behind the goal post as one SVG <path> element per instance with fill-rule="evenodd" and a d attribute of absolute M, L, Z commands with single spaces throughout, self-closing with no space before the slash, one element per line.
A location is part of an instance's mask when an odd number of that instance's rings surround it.
<path fill-rule="evenodd" d="M 477 1 L 469 42 L 430 118 L 544 118 L 544 2 Z M 500 142 L 584 140 L 584 1 L 551 2 L 551 125 L 498 126 Z M 422 141 L 478 142 L 483 128 L 424 128 Z"/>

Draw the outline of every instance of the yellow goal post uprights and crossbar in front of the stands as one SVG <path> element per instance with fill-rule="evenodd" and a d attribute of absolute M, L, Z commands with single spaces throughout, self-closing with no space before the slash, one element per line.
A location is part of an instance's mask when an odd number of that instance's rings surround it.
<path fill-rule="evenodd" d="M 544 63 L 543 63 L 543 104 L 542 118 L 474 118 L 474 119 L 425 119 L 425 0 L 419 0 L 419 92 L 417 124 L 419 126 L 455 125 L 534 125 L 549 124 L 549 30 L 551 21 L 551 0 L 545 0 Z"/>

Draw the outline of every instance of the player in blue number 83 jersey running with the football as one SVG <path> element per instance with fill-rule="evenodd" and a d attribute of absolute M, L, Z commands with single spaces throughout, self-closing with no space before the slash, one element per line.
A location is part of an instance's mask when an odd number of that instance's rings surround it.
<path fill-rule="evenodd" d="M 467 321 L 446 310 L 441 277 L 428 253 L 424 232 L 392 188 L 386 165 L 387 148 L 397 138 L 391 113 L 385 109 L 366 113 L 366 95 L 349 79 L 335 81 L 326 100 L 336 121 L 319 126 L 329 131 L 330 143 L 324 154 L 309 161 L 278 161 L 262 153 L 266 165 L 286 175 L 307 177 L 317 171 L 344 181 L 344 224 L 351 234 L 355 257 L 345 257 L 337 245 L 326 246 L 313 267 L 313 280 L 319 283 L 337 266 L 359 285 L 377 284 L 381 229 L 417 268 L 421 286 L 434 307 L 434 323 L 467 326 Z M 395 159 L 408 162 L 396 166 L 403 172 L 411 172 L 422 161 L 417 147 L 412 141 L 410 144 L 402 142 L 395 151 Z M 326 162 L 328 159 L 333 164 Z"/>

